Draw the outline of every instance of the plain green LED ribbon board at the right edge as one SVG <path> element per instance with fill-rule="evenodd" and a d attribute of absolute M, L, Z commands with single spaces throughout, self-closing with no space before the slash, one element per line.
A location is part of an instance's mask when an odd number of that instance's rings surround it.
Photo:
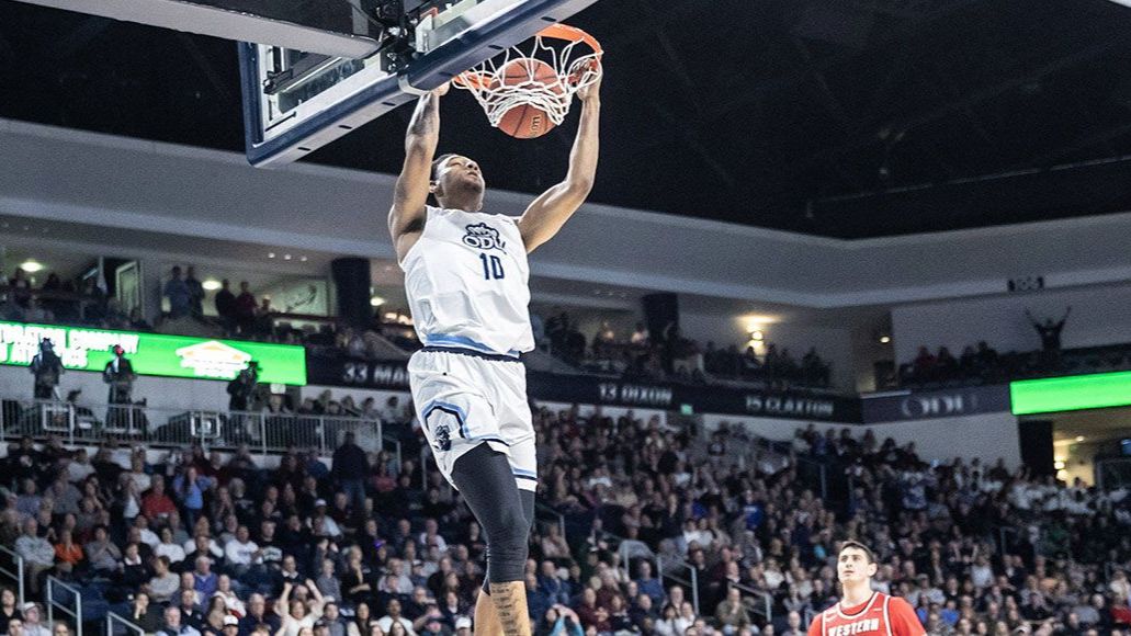
<path fill-rule="evenodd" d="M 1009 392 L 1019 416 L 1123 407 L 1131 404 L 1131 372 L 1022 380 Z"/>

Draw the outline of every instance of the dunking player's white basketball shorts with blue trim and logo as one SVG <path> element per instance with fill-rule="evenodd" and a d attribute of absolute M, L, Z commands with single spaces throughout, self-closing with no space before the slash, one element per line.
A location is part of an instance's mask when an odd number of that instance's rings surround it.
<path fill-rule="evenodd" d="M 416 416 L 440 472 L 452 487 L 456 460 L 484 442 L 509 458 L 520 489 L 537 487 L 526 366 L 501 358 L 428 348 L 408 360 Z"/>

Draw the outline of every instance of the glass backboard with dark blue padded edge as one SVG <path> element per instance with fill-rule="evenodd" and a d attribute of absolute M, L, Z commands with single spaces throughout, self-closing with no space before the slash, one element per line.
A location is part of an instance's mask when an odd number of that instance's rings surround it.
<path fill-rule="evenodd" d="M 596 0 L 385 0 L 365 58 L 240 43 L 248 160 L 282 165 L 347 134 Z"/>

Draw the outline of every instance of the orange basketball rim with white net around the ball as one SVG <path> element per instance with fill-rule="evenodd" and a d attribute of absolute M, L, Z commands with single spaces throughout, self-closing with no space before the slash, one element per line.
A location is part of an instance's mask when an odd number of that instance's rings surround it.
<path fill-rule="evenodd" d="M 452 81 L 458 88 L 469 90 L 483 106 L 491 125 L 498 128 L 503 115 L 515 106 L 530 105 L 546 113 L 558 125 L 569 114 L 573 94 L 601 78 L 602 50 L 597 42 L 578 28 L 553 25 L 534 37 L 534 45 L 519 46 L 487 60 L 457 76 Z M 556 80 L 546 84 L 538 78 L 542 64 L 550 64 Z M 515 62 L 512 66 L 508 66 Z M 500 77 L 507 69 L 507 81 Z M 521 75 L 515 77 L 515 71 Z"/>

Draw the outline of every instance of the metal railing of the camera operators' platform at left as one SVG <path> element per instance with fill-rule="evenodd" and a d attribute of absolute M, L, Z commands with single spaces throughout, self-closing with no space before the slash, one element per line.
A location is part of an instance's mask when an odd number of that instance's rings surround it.
<path fill-rule="evenodd" d="M 247 445 L 252 452 L 265 455 L 291 447 L 330 454 L 344 435 L 352 432 L 362 448 L 369 452 L 386 448 L 383 427 L 377 419 L 55 400 L 5 400 L 0 409 L 0 432 L 6 437 L 55 435 L 68 445 L 95 445 L 106 441 L 166 447 L 200 444 L 207 448 L 235 448 Z M 399 463 L 399 442 L 388 442 Z"/>

